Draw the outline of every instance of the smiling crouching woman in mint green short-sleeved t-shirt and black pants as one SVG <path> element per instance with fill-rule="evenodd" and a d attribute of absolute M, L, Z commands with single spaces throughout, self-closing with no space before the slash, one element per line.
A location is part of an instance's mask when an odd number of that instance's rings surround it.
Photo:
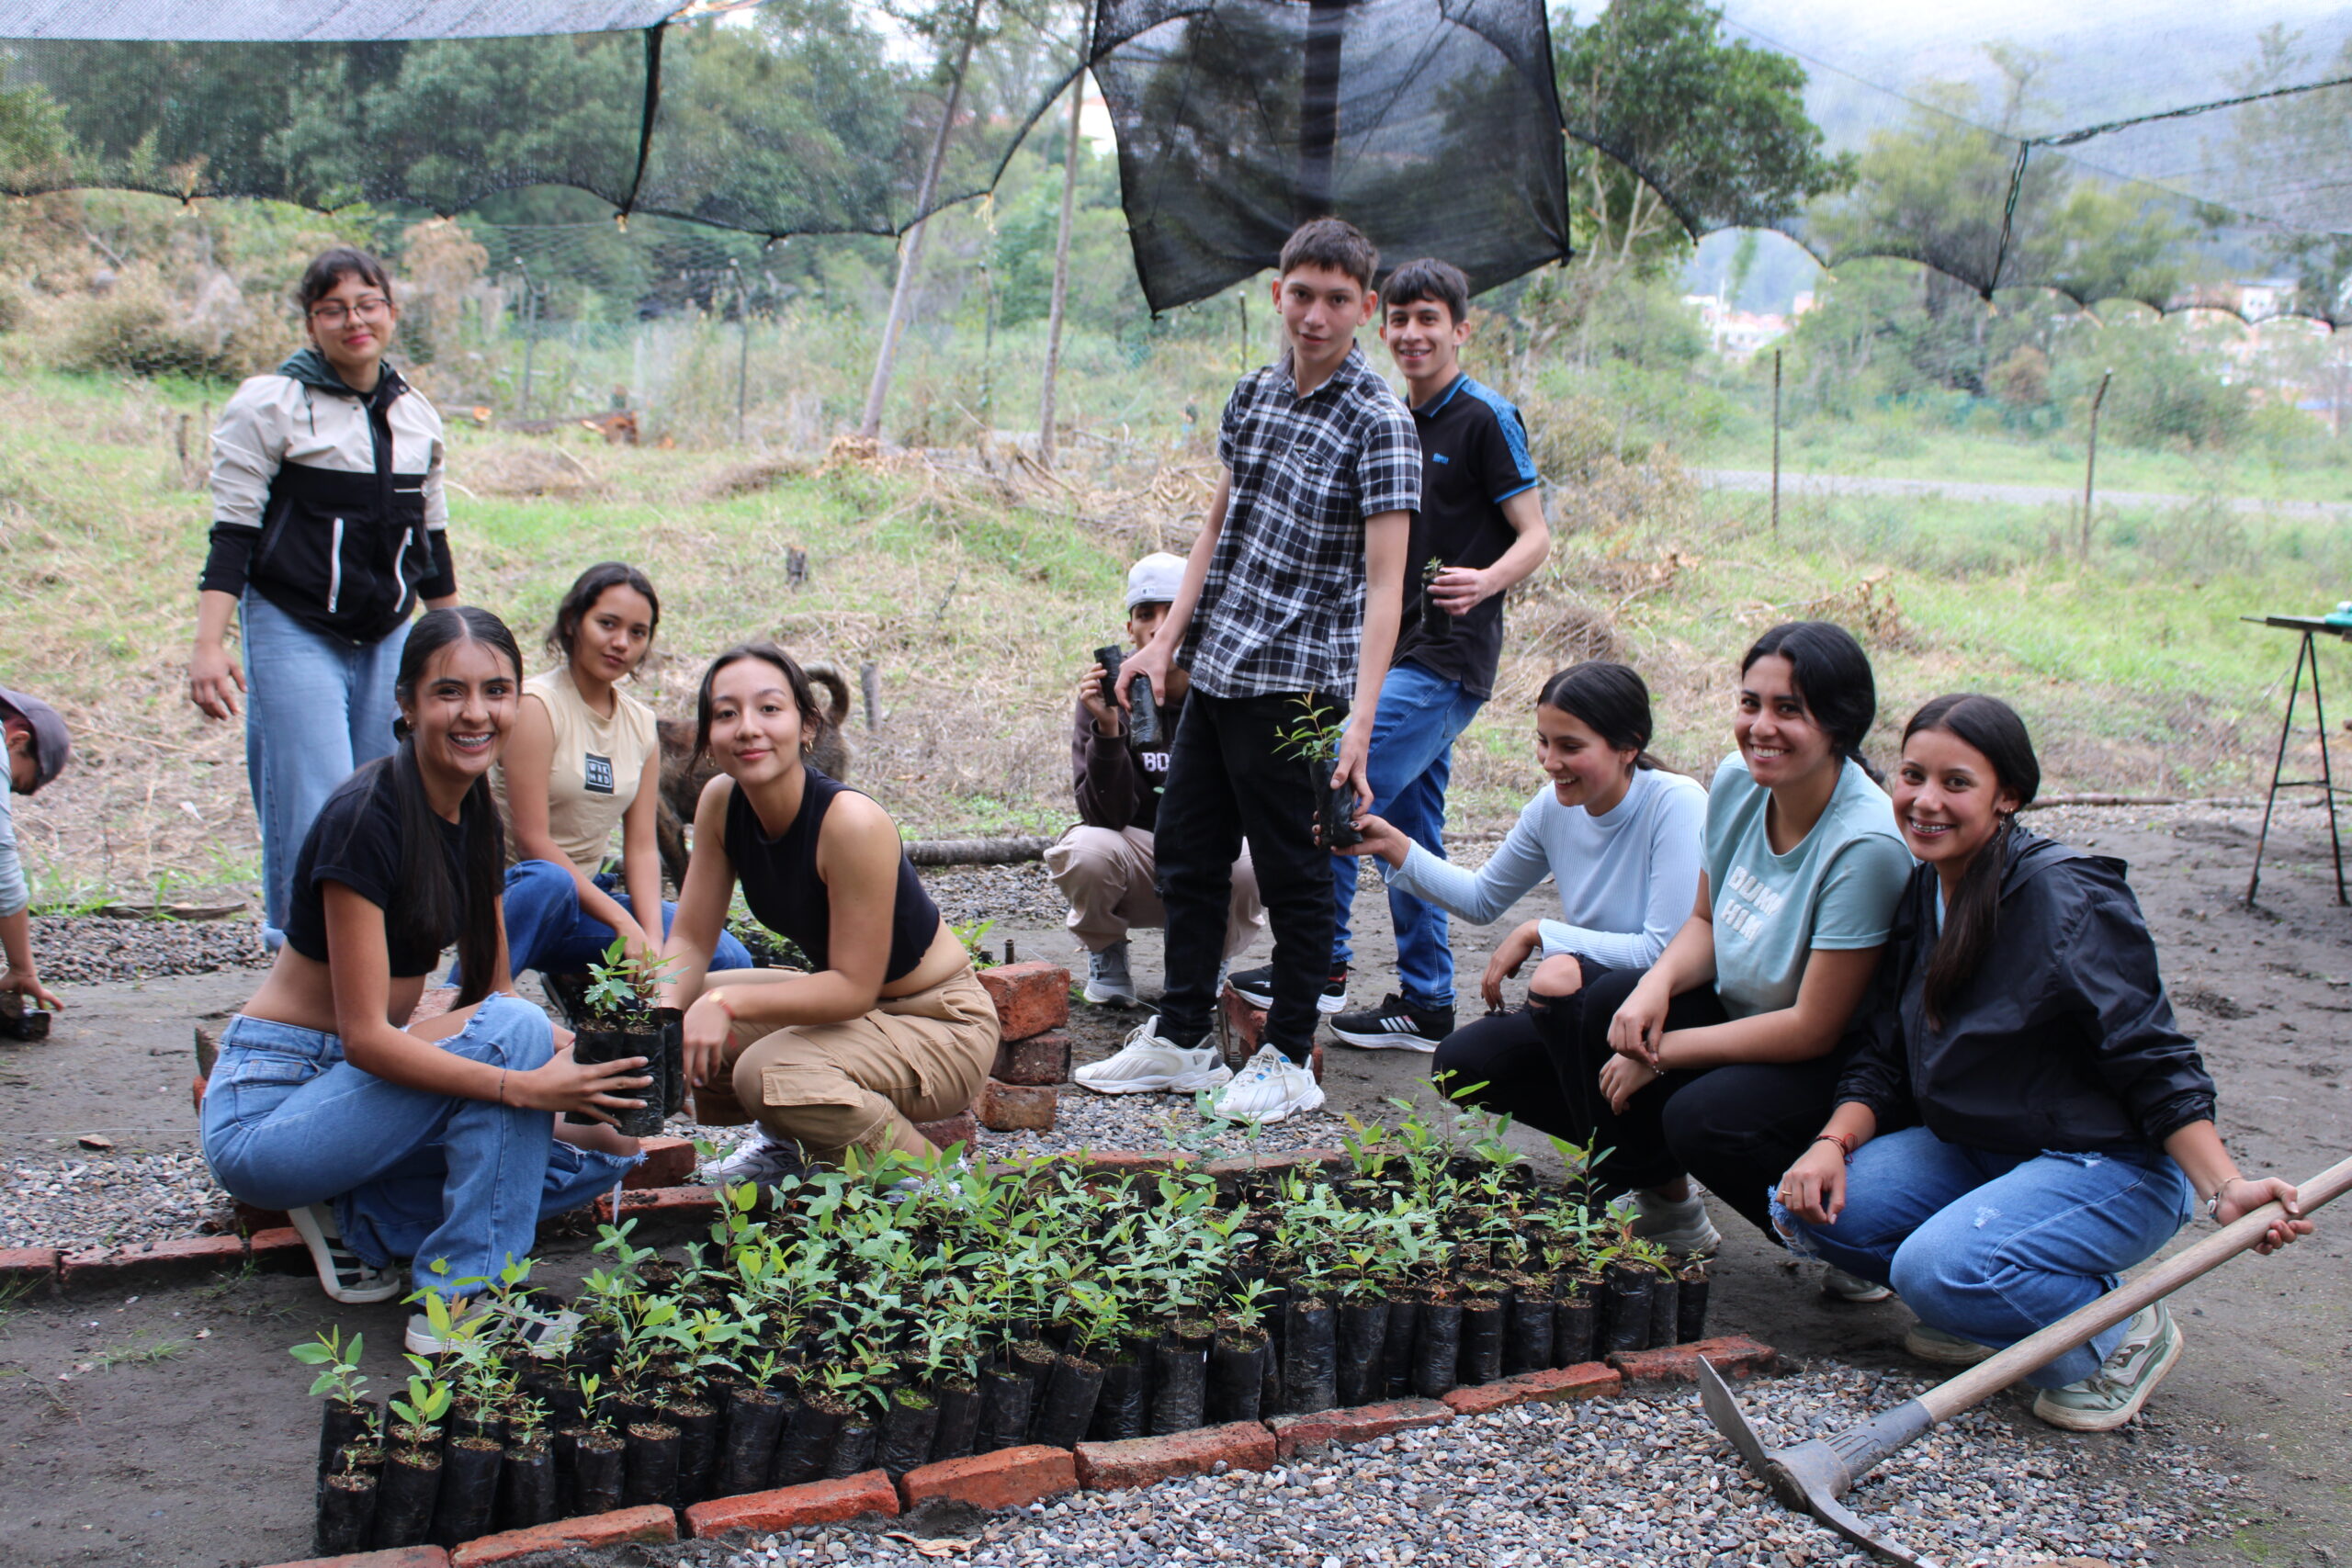
<path fill-rule="evenodd" d="M 1599 1175 L 1670 1251 L 1719 1239 L 1691 1175 L 1769 1234 L 1773 1182 L 1828 1117 L 1912 867 L 1860 757 L 1875 717 L 1851 635 L 1764 632 L 1740 661 L 1738 752 L 1708 788 L 1698 905 L 1651 969 L 1599 976 L 1578 1009 Z"/>

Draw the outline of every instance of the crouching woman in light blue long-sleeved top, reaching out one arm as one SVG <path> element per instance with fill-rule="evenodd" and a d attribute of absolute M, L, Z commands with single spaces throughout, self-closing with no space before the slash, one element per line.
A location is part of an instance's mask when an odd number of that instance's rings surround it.
<path fill-rule="evenodd" d="M 1708 797 L 1696 780 L 1658 769 L 1649 755 L 1649 689 L 1625 665 L 1562 670 L 1536 698 L 1536 762 L 1550 788 L 1526 802 L 1503 846 L 1477 872 L 1437 858 L 1367 816 L 1364 842 L 1348 853 L 1388 863 L 1390 886 L 1486 924 L 1545 877 L 1559 891 L 1559 919 L 1531 919 L 1486 964 L 1486 1018 L 1454 1030 L 1430 1067 L 1472 1100 L 1562 1138 L 1590 1135 L 1590 1072 L 1552 1041 L 1573 1041 L 1562 1013 L 1597 976 L 1649 969 L 1691 912 L 1698 891 Z M 1503 1013 L 1503 980 L 1541 954 L 1529 1006 Z M 1395 997 L 1390 1001 L 1397 1001 Z M 1406 1020 L 1409 1023 L 1409 1020 Z M 1414 1044 L 1399 1027 L 1388 1037 Z M 1573 1084 L 1562 1067 L 1573 1065 Z"/>

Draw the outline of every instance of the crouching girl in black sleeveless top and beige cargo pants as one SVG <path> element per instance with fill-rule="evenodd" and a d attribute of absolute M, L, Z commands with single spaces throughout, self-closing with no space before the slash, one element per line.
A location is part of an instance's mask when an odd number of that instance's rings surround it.
<path fill-rule="evenodd" d="M 995 1011 L 889 813 L 807 766 L 818 724 L 809 677 L 774 644 L 729 649 L 703 672 L 696 750 L 722 778 L 694 811 L 663 999 L 687 1009 L 699 1107 L 731 1088 L 779 1145 L 917 1154 L 929 1145 L 915 1124 L 962 1112 L 985 1079 Z M 706 983 L 739 882 L 809 973 Z"/>

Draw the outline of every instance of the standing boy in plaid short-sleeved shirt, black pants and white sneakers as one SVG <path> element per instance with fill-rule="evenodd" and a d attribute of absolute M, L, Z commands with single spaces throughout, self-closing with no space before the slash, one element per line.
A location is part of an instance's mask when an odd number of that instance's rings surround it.
<path fill-rule="evenodd" d="M 1355 346 L 1378 310 L 1376 268 L 1371 240 L 1338 219 L 1315 219 L 1282 247 L 1275 310 L 1287 353 L 1225 402 L 1223 473 L 1183 585 L 1122 670 L 1122 682 L 1148 675 L 1157 693 L 1183 663 L 1192 696 L 1160 799 L 1167 994 L 1117 1056 L 1077 1070 L 1098 1093 L 1216 1088 L 1216 1112 L 1240 1121 L 1324 1103 L 1308 1053 L 1331 959 L 1331 853 L 1315 842 L 1319 769 L 1287 755 L 1284 731 L 1301 724 L 1303 703 L 1345 712 L 1331 780 L 1352 785 L 1359 809 L 1371 804 L 1364 755 L 1421 505 L 1414 416 Z M 1209 1025 L 1244 837 L 1275 964 L 1265 1044 L 1235 1077 Z"/>

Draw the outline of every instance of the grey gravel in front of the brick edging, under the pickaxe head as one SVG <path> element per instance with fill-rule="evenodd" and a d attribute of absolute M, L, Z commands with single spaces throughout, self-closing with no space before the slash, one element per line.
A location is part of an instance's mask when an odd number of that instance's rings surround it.
<path fill-rule="evenodd" d="M 1766 1443 L 1830 1432 L 1922 1382 L 1849 1366 L 1745 1385 Z M 1915 1443 L 1849 1495 L 1865 1523 L 1943 1568 L 2150 1552 L 2237 1523 L 2237 1476 L 2161 1418 L 2124 1439 L 2023 1439 L 1971 1413 Z M 2117 1479 L 2114 1443 L 2129 1443 Z M 2105 1446 L 2105 1448 L 2103 1448 Z M 922 1552 L 929 1544 L 931 1552 Z M 1444 1563 L 1446 1568 L 1863 1568 L 1870 1559 L 1773 1502 L 1715 1434 L 1698 1399 L 1519 1406 L 1404 1432 L 1265 1474 L 1195 1476 L 1131 1493 L 1077 1493 L 990 1519 L 971 1542 L 804 1528 L 753 1542 L 727 1568 L 924 1563 Z"/>

